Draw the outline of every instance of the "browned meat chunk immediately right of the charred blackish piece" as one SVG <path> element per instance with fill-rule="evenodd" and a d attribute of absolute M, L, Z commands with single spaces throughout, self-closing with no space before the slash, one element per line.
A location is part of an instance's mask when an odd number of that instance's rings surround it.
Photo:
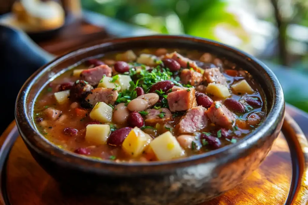
<path fill-rule="evenodd" d="M 86 101 L 94 106 L 98 102 L 114 104 L 117 98 L 118 91 L 112 88 L 95 88 L 91 90 L 91 93 L 86 97 Z"/>

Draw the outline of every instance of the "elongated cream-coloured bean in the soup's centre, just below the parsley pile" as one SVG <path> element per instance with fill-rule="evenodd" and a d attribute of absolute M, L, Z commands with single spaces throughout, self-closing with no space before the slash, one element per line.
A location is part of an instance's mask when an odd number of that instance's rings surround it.
<path fill-rule="evenodd" d="M 139 97 L 130 101 L 127 105 L 127 108 L 130 111 L 143 111 L 157 103 L 158 99 L 159 95 L 157 95 L 156 93 L 147 93 L 144 95 L 140 95 Z"/>

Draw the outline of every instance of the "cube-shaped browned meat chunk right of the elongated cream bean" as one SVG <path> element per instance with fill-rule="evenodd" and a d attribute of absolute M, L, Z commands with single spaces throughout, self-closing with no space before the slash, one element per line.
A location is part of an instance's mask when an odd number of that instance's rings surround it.
<path fill-rule="evenodd" d="M 167 96 L 167 101 L 171 112 L 188 110 L 192 107 L 197 106 L 195 89 L 183 88 L 171 92 Z"/>

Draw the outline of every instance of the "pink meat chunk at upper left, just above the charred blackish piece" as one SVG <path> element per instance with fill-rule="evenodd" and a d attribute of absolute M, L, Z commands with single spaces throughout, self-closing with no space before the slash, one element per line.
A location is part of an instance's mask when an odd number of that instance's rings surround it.
<path fill-rule="evenodd" d="M 80 78 L 90 85 L 97 85 L 103 76 L 111 77 L 112 69 L 108 65 L 99 65 L 95 68 L 84 70 L 80 73 Z"/>

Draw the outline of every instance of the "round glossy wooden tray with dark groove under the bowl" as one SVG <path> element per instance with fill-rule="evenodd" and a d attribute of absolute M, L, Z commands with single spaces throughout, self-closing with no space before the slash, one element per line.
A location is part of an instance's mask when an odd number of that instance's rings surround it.
<path fill-rule="evenodd" d="M 293 111 L 290 113 L 298 116 Z M 303 119 L 307 124 L 308 118 L 304 116 Z M 98 204 L 95 199 L 61 191 L 58 183 L 32 158 L 16 131 L 15 122 L 12 122 L 0 137 L 3 145 L 0 151 L 0 204 Z M 202 205 L 307 204 L 307 167 L 307 139 L 286 113 L 282 133 L 261 166 L 239 186 Z"/>

